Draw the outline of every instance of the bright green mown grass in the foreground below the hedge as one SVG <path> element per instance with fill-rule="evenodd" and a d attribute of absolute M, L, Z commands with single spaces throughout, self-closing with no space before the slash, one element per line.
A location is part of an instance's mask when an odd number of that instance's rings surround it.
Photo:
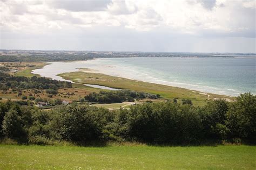
<path fill-rule="evenodd" d="M 0 169 L 255 169 L 255 146 L 0 145 Z"/>

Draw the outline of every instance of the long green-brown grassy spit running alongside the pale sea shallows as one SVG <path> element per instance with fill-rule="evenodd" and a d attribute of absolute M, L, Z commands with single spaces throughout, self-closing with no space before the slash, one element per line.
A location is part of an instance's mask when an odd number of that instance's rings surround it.
<path fill-rule="evenodd" d="M 192 102 L 196 105 L 203 105 L 207 101 L 214 98 L 232 98 L 223 95 L 204 94 L 200 93 L 199 91 L 193 91 L 184 88 L 164 86 L 161 84 L 124 79 L 121 77 L 114 77 L 98 73 L 71 72 L 59 74 L 59 76 L 62 76 L 66 80 L 72 80 L 78 83 L 98 84 L 112 88 L 144 91 L 151 94 L 160 94 L 162 97 L 168 99 L 173 99 L 177 97 L 179 98 L 178 101 L 180 101 L 182 98 L 188 98 L 192 100 Z"/>

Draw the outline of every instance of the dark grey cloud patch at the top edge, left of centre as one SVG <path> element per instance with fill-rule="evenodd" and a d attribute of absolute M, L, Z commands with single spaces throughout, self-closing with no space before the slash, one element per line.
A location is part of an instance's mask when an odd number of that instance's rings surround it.
<path fill-rule="evenodd" d="M 65 9 L 68 11 L 104 11 L 107 9 L 107 4 L 109 4 L 111 0 L 74 0 L 74 1 L 59 1 L 53 0 L 48 2 L 50 6 L 57 9 Z"/>

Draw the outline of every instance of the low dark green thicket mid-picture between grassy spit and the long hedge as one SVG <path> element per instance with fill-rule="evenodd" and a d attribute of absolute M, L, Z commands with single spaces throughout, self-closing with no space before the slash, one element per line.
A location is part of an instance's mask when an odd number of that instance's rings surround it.
<path fill-rule="evenodd" d="M 117 90 L 117 91 L 100 91 L 99 93 L 91 93 L 85 96 L 85 100 L 97 103 L 120 103 L 133 102 L 134 98 L 151 98 L 157 99 L 160 95 L 152 95 L 148 93 L 132 91 L 132 90 Z"/>

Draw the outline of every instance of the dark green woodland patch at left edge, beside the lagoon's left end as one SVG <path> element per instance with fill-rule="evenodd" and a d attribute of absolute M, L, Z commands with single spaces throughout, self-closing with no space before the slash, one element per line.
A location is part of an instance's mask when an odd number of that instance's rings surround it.
<path fill-rule="evenodd" d="M 0 89 L 2 90 L 8 90 L 9 88 L 57 90 L 61 87 L 72 87 L 72 84 L 70 82 L 46 79 L 45 77 L 15 77 L 0 72 Z"/>

